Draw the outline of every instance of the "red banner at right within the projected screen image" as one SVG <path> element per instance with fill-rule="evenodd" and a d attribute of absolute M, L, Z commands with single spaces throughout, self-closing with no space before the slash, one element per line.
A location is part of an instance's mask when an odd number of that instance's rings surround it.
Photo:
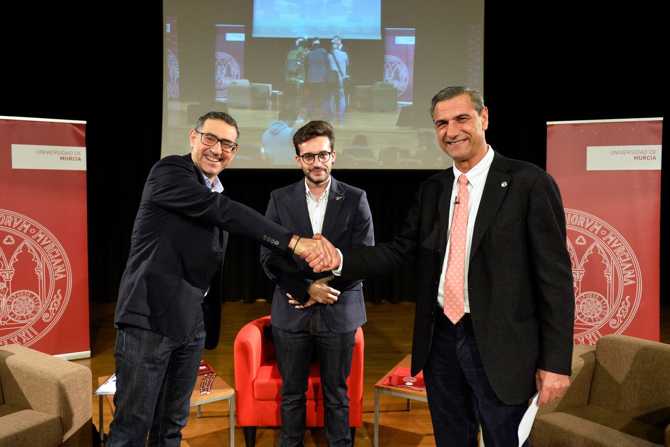
<path fill-rule="evenodd" d="M 398 101 L 411 104 L 414 87 L 414 28 L 385 28 L 384 82 L 398 88 Z"/>

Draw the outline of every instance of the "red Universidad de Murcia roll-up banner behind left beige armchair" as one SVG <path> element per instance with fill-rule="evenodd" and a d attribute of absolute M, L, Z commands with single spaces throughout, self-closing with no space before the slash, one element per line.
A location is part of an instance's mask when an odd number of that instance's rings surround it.
<path fill-rule="evenodd" d="M 85 124 L 0 116 L 0 346 L 90 357 Z"/>

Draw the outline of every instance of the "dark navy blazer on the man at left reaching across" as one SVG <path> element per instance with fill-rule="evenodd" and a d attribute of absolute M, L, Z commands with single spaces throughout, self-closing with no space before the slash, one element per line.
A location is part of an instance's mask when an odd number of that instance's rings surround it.
<path fill-rule="evenodd" d="M 214 349 L 220 331 L 227 232 L 279 253 L 287 252 L 293 236 L 253 209 L 212 193 L 190 153 L 158 161 L 149 172 L 135 217 L 115 324 L 181 339 L 192 329 L 209 288 L 205 347 Z"/>

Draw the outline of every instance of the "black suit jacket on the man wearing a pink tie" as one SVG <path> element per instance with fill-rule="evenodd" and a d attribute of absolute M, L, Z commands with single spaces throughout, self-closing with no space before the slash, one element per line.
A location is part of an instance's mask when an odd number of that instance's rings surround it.
<path fill-rule="evenodd" d="M 342 250 L 343 278 L 420 266 L 413 375 L 428 359 L 435 312 L 443 311 L 438 282 L 453 185 L 451 168 L 421 183 L 393 242 Z M 565 214 L 558 186 L 539 167 L 494 154 L 472 234 L 468 298 L 482 365 L 501 401 L 527 401 L 537 368 L 569 375 L 575 301 Z"/>

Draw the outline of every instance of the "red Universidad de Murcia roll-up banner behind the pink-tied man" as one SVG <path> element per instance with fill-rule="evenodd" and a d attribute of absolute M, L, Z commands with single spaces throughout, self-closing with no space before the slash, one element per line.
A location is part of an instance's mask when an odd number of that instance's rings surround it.
<path fill-rule="evenodd" d="M 575 289 L 576 344 L 659 340 L 662 118 L 547 123 Z"/>

